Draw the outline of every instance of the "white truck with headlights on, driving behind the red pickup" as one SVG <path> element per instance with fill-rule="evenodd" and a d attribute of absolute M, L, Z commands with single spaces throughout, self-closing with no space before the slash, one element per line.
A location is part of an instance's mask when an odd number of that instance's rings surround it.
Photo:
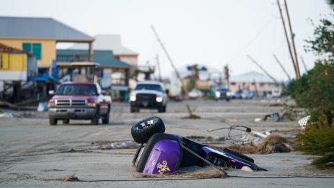
<path fill-rule="evenodd" d="M 130 93 L 130 112 L 141 109 L 157 109 L 166 112 L 167 94 L 164 85 L 158 81 L 138 82 L 134 91 Z"/>

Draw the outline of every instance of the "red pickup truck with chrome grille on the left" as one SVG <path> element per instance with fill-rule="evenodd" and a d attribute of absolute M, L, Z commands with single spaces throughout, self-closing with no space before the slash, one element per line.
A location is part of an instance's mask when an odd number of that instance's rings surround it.
<path fill-rule="evenodd" d="M 106 124 L 111 97 L 102 95 L 99 84 L 67 82 L 58 87 L 48 107 L 50 125 L 57 125 L 58 120 L 68 124 L 70 119 L 90 120 L 92 125 L 98 125 L 100 118 Z"/>

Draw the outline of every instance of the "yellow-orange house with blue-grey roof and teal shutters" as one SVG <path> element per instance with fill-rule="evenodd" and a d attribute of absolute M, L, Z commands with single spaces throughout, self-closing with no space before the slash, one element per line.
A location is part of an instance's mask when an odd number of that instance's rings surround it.
<path fill-rule="evenodd" d="M 38 69 L 45 72 L 56 60 L 58 42 L 86 43 L 92 61 L 93 41 L 93 37 L 49 17 L 0 17 L 0 43 L 32 54 Z"/>

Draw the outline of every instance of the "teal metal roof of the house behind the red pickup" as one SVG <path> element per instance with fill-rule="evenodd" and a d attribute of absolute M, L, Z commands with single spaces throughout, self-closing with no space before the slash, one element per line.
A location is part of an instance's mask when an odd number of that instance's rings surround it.
<path fill-rule="evenodd" d="M 88 50 L 84 49 L 57 49 L 57 55 L 73 56 L 78 54 L 88 54 Z M 131 66 L 127 63 L 120 61 L 118 58 L 113 56 L 111 50 L 94 50 L 93 61 L 99 63 L 102 68 L 130 68 Z"/>

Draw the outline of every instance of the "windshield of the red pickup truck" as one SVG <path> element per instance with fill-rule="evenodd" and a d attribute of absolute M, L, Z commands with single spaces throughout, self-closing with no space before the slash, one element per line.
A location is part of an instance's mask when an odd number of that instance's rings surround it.
<path fill-rule="evenodd" d="M 88 84 L 61 85 L 56 95 L 96 95 L 96 86 Z"/>

